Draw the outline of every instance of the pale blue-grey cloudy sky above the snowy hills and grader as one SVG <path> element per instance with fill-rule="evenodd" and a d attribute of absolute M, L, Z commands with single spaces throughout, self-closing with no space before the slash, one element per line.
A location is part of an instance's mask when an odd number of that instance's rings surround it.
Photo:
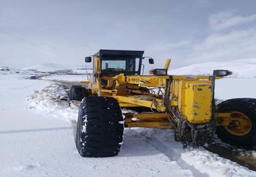
<path fill-rule="evenodd" d="M 0 0 L 0 67 L 85 65 L 99 49 L 145 50 L 171 69 L 256 58 L 255 0 Z"/>

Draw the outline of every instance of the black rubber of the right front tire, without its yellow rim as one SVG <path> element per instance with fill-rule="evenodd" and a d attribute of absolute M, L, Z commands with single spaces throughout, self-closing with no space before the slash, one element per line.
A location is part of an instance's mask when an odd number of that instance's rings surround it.
<path fill-rule="evenodd" d="M 222 141 L 251 149 L 256 145 L 256 99 L 234 98 L 218 104 L 217 112 L 237 111 L 245 114 L 251 121 L 251 130 L 243 136 L 232 135 L 225 127 L 218 126 L 216 133 Z"/>

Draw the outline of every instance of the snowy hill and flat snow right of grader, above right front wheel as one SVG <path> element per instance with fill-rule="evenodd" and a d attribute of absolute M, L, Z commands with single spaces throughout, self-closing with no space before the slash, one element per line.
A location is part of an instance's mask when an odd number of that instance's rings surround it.
<path fill-rule="evenodd" d="M 212 75 L 215 69 L 232 71 L 232 75 L 216 80 L 216 98 L 220 100 L 256 98 L 256 59 L 200 63 L 170 70 L 168 73 L 172 75 Z"/>

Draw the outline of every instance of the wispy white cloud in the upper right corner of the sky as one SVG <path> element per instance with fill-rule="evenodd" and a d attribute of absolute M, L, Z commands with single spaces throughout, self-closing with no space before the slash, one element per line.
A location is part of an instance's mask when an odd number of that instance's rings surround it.
<path fill-rule="evenodd" d="M 256 20 L 256 14 L 249 16 L 234 15 L 230 11 L 220 12 L 209 17 L 210 30 L 220 31 Z"/>

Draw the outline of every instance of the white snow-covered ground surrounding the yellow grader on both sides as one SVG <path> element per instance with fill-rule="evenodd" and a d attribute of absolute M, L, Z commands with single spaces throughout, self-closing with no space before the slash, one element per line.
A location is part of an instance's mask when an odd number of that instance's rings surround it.
<path fill-rule="evenodd" d="M 256 98 L 254 61 L 216 66 L 214 69 L 224 67 L 236 73 L 235 77 L 216 81 L 216 98 Z M 213 63 L 192 65 L 171 73 L 211 73 L 199 69 L 213 70 L 212 66 Z M 0 71 L 0 81 L 4 83 L 0 87 L 0 176 L 256 176 L 256 172 L 203 147 L 183 149 L 174 141 L 171 130 L 125 129 L 118 156 L 81 157 L 71 128 L 78 110 L 67 104 L 68 90 L 53 81 L 42 80 L 79 80 L 81 75 L 76 79 L 73 75 L 25 79 L 36 72 L 31 68 L 19 73 Z"/>

